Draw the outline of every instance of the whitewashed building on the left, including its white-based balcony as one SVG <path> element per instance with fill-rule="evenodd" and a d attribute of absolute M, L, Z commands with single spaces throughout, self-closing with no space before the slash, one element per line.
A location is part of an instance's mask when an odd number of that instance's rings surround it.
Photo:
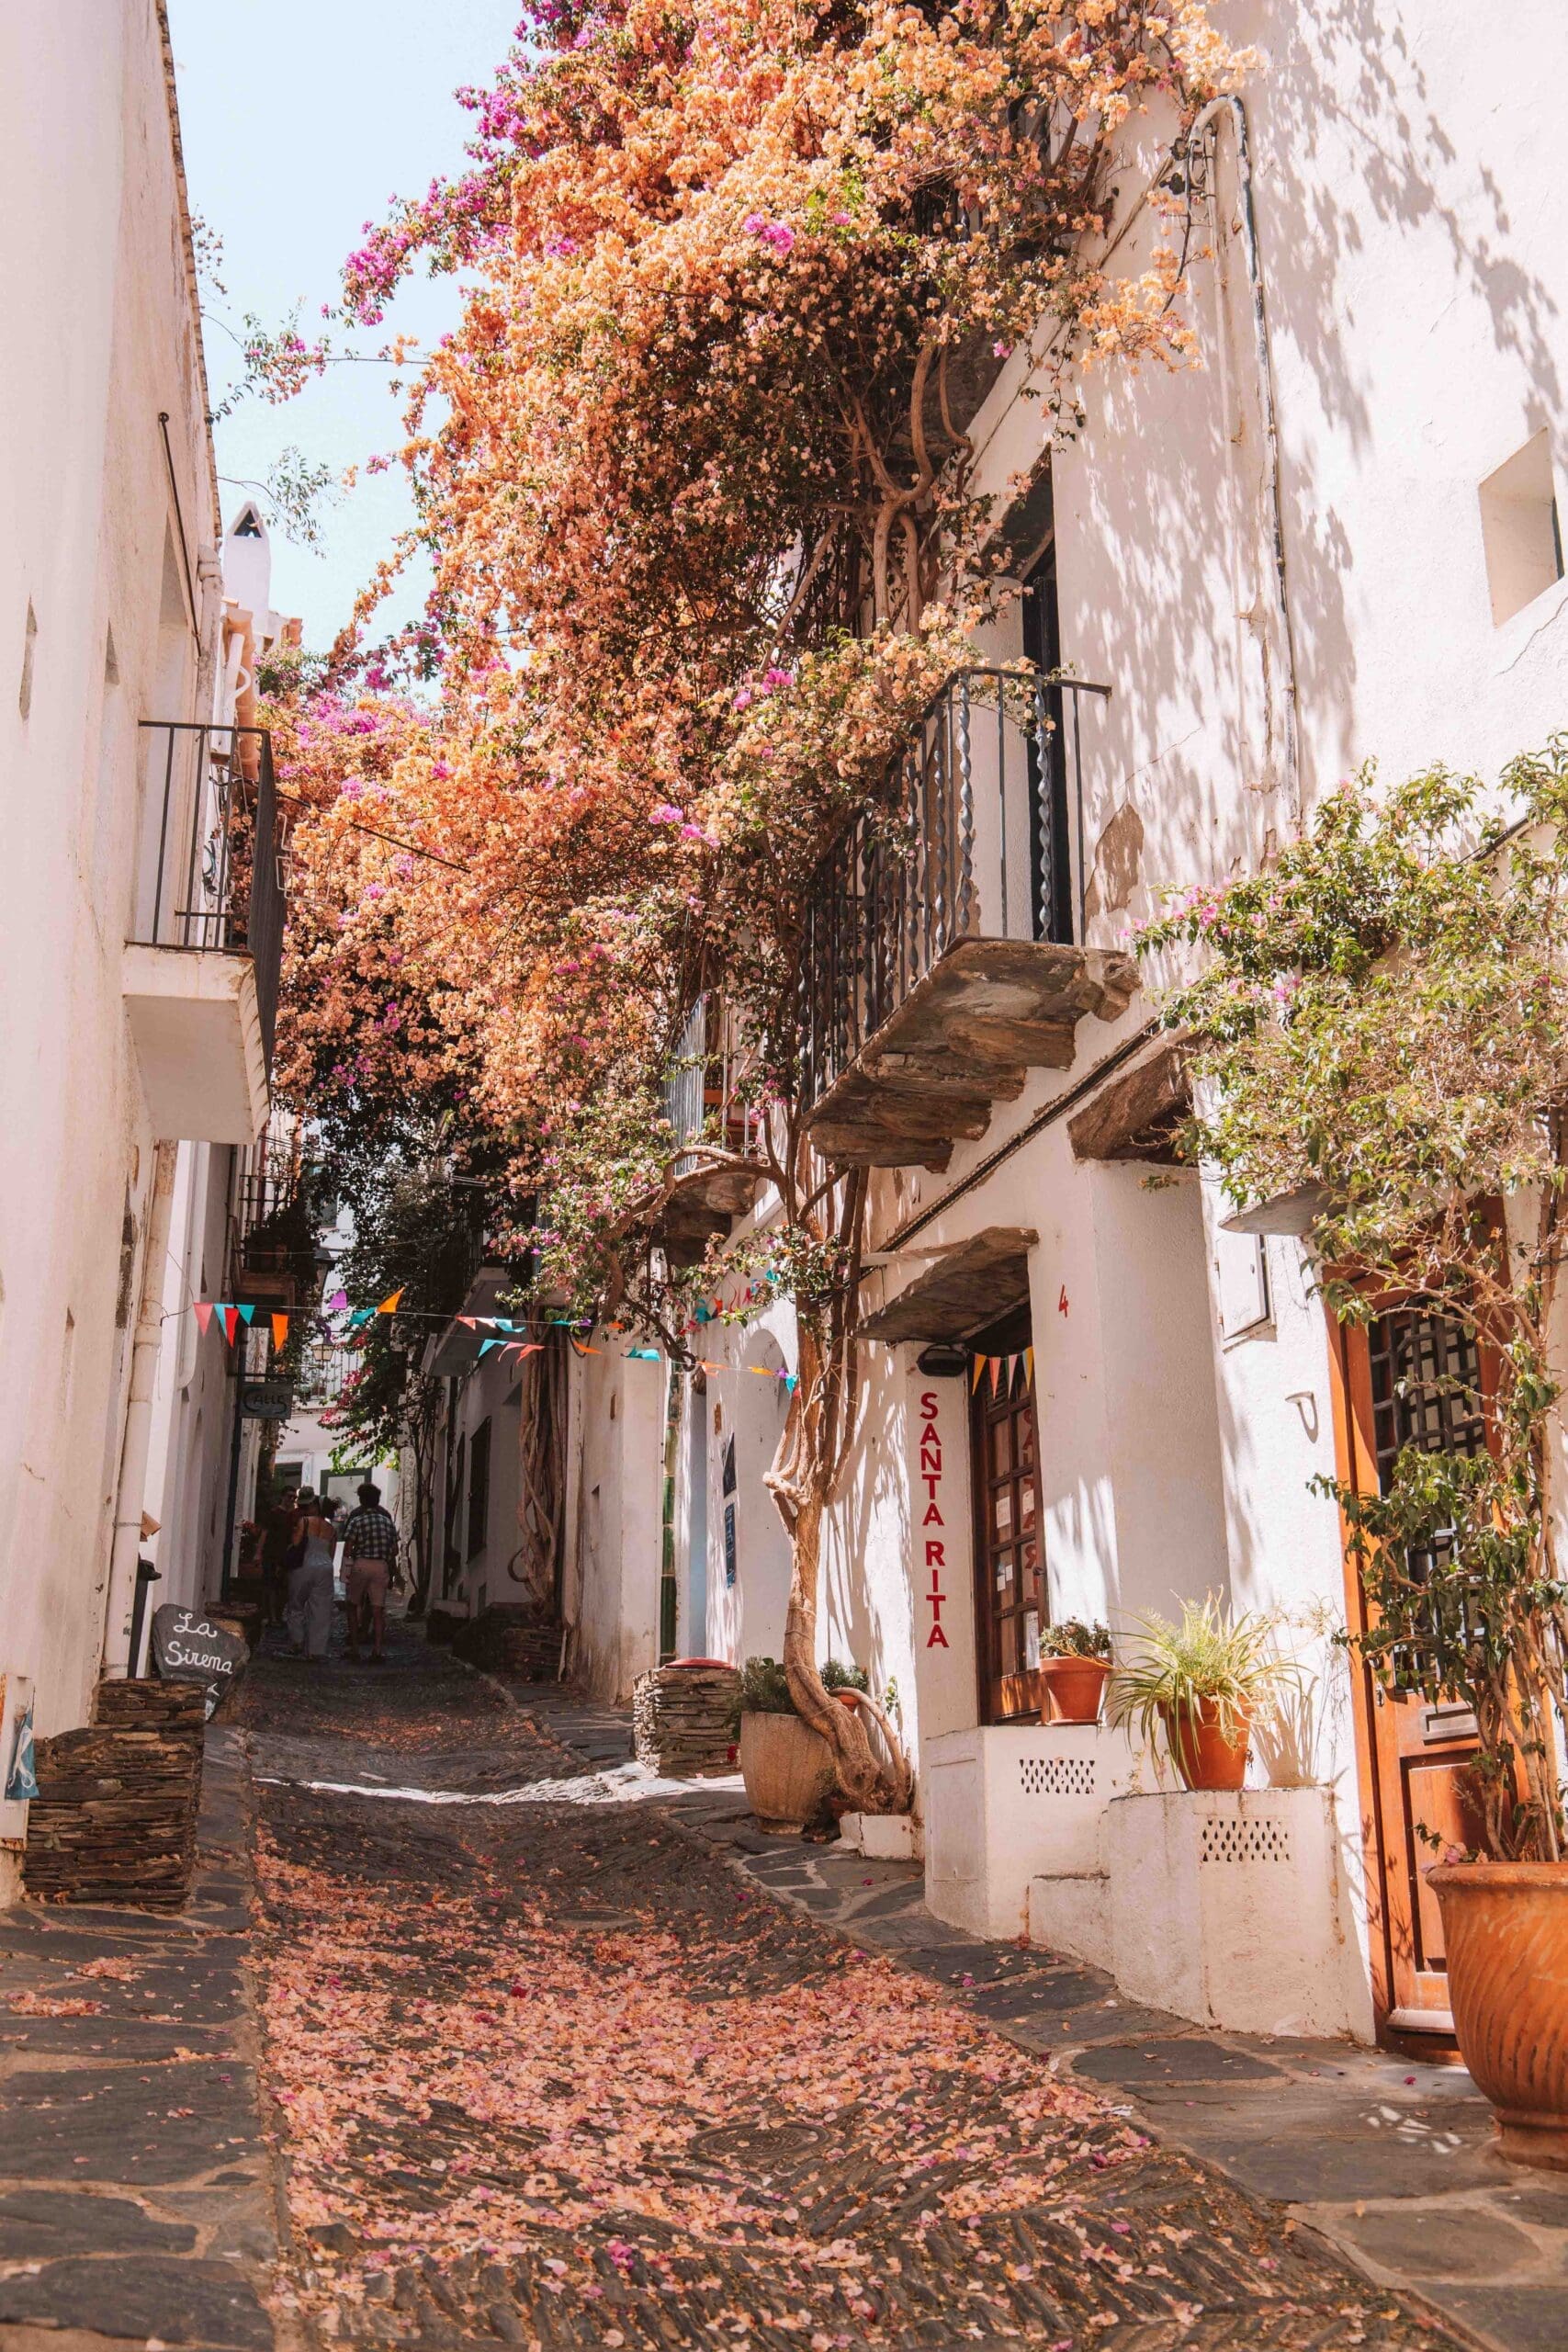
<path fill-rule="evenodd" d="M 212 1590 L 228 1367 L 188 1308 L 268 1115 L 282 898 L 162 5 L 7 12 L 0 193 L 0 1675 L 52 1733 L 125 1672 L 153 1522 L 162 1597 Z"/>

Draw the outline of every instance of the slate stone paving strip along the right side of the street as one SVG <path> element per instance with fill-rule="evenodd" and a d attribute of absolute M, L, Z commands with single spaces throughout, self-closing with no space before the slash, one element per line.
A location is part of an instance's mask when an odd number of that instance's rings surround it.
<path fill-rule="evenodd" d="M 1462 2067 L 1342 2042 L 1204 2032 L 1124 1999 L 1077 1962 L 973 1943 L 931 1919 L 917 1865 L 764 1839 L 733 1792 L 682 1799 L 686 1825 L 856 1943 L 896 1957 L 1025 2049 L 1100 2086 L 1168 2147 L 1215 2166 L 1371 2279 L 1415 2293 L 1465 2343 L 1568 2347 L 1568 2176 L 1493 2150 Z M 889 1900 L 886 1879 L 903 1886 Z"/>

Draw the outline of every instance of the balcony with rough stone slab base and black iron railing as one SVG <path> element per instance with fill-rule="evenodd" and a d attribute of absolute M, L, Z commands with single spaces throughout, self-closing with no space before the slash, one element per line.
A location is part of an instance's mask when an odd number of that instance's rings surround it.
<path fill-rule="evenodd" d="M 1110 687 L 959 670 L 905 750 L 891 811 L 823 858 L 802 936 L 811 1138 L 865 1167 L 943 1169 L 1032 1068 L 1067 1070 L 1086 1014 L 1138 967 L 1084 948 L 1081 727 Z"/>

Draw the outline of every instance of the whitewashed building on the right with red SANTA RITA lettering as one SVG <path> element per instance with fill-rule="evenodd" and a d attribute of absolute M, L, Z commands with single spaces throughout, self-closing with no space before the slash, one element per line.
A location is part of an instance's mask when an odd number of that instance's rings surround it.
<path fill-rule="evenodd" d="M 1568 19 L 1526 0 L 1479 38 L 1455 0 L 1394 0 L 1375 24 L 1222 24 L 1262 61 L 1182 160 L 1201 365 L 1091 374 L 1046 459 L 1020 397 L 1041 353 L 1006 360 L 971 487 L 1025 593 L 910 746 L 936 814 L 903 915 L 872 906 L 858 844 L 823 875 L 837 969 L 882 978 L 872 1000 L 809 971 L 816 1136 L 877 1171 L 820 1639 L 896 1686 L 943 1917 L 1194 2018 L 1434 2049 L 1418 1825 L 1455 1818 L 1469 1724 L 1373 1708 L 1331 1642 L 1359 1595 L 1307 1486 L 1375 1484 L 1434 1334 L 1401 1312 L 1340 1334 L 1293 1235 L 1225 1230 L 1166 1164 L 1182 1080 L 1126 934 L 1164 884 L 1267 861 L 1366 757 L 1495 776 L 1568 717 Z M 1159 233 L 1157 167 L 1133 125 L 1119 273 Z M 1020 652 L 1070 673 L 1044 767 L 983 675 Z M 790 1319 L 712 1327 L 703 1355 L 724 1369 L 682 1376 L 672 1421 L 654 1367 L 576 1371 L 569 1595 L 604 1696 L 661 1653 L 780 1649 L 762 1468 L 785 1392 L 757 1371 L 790 1367 Z M 1161 1792 L 1121 1736 L 1039 1724 L 1046 1623 L 1206 1592 L 1279 1611 L 1309 1677 L 1244 1795 Z"/>

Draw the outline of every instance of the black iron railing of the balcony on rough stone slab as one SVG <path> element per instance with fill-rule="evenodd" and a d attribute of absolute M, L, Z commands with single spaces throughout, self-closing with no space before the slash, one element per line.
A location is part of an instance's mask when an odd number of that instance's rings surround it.
<path fill-rule="evenodd" d="M 1110 687 L 969 668 L 905 748 L 893 809 L 860 814 L 804 910 L 802 1091 L 820 1101 L 961 938 L 1084 938 L 1081 708 Z M 1074 891 L 1077 863 L 1077 891 Z"/>

